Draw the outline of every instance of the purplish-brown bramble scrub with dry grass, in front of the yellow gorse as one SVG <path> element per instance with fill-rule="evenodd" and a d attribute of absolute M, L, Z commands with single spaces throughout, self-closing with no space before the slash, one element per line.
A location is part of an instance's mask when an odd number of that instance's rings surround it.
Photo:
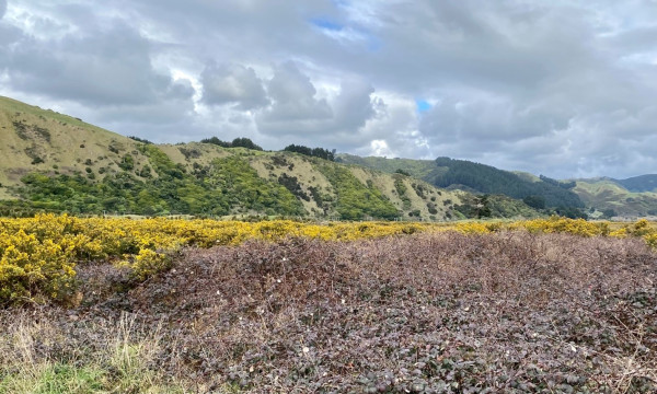
<path fill-rule="evenodd" d="M 657 255 L 550 233 L 585 223 L 188 248 L 129 290 L 81 266 L 79 306 L 0 314 L 0 375 L 116 368 L 119 337 L 151 344 L 145 376 L 189 392 L 654 392 Z"/>

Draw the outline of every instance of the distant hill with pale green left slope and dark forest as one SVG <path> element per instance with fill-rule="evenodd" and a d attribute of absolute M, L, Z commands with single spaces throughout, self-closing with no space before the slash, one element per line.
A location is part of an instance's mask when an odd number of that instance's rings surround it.
<path fill-rule="evenodd" d="M 535 198 L 546 207 L 583 208 L 570 190 L 574 183 L 562 183 L 545 176 L 512 173 L 465 160 L 438 158 L 434 161 L 410 159 L 358 158 L 338 155 L 343 163 L 365 165 L 379 171 L 406 172 L 437 187 L 461 188 L 483 194 L 499 194 L 517 199 Z"/>

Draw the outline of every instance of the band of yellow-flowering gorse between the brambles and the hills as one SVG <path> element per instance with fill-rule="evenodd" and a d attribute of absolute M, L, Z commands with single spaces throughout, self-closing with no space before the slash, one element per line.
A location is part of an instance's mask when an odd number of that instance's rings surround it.
<path fill-rule="evenodd" d="M 256 223 L 217 220 L 74 218 L 41 215 L 0 218 L 0 303 L 19 299 L 66 300 L 76 289 L 76 265 L 107 259 L 127 267 L 137 280 L 166 269 L 170 253 L 185 246 L 238 245 L 246 240 L 276 242 L 287 236 L 325 241 L 458 231 L 485 234 L 502 230 L 570 233 L 581 236 L 642 236 L 657 247 L 657 231 L 645 220 L 615 231 L 604 222 L 563 218 L 512 223 L 406 222 L 302 223 L 289 220 Z"/>

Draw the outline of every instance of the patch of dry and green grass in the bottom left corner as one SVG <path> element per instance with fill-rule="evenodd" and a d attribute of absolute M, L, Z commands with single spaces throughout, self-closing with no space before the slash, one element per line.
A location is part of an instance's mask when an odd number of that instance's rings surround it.
<path fill-rule="evenodd" d="M 108 343 L 51 359 L 39 356 L 37 344 L 59 341 L 64 333 L 25 318 L 16 317 L 0 338 L 0 394 L 185 393 L 153 363 L 159 332 L 131 340 L 134 321 L 122 317 Z"/>

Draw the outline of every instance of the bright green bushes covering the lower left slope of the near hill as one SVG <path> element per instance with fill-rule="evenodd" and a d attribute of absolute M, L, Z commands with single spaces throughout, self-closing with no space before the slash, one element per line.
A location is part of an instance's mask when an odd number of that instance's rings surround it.
<path fill-rule="evenodd" d="M 239 158 L 218 159 L 187 172 L 157 147 L 142 149 L 158 174 L 148 182 L 126 170 L 97 183 L 82 174 L 33 173 L 22 178 L 24 186 L 19 193 L 32 209 L 55 212 L 223 216 L 240 208 L 267 215 L 303 213 L 301 202 L 287 188 L 261 178 Z"/>

